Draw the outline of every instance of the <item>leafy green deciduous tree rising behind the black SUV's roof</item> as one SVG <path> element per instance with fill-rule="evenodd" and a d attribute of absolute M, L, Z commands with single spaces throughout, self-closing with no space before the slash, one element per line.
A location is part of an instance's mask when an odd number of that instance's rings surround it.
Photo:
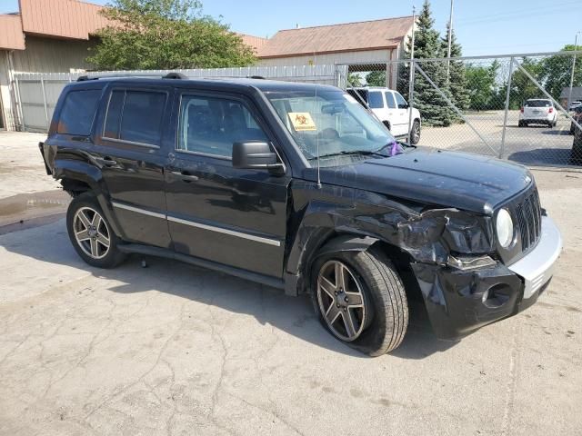
<path fill-rule="evenodd" d="M 202 15 L 198 0 L 114 0 L 111 25 L 87 62 L 103 70 L 220 68 L 256 61 L 252 47 L 227 25 Z"/>

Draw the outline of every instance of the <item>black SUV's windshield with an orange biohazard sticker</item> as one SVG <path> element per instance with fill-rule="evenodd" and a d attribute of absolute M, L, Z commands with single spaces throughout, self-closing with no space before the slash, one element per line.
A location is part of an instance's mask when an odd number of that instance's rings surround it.
<path fill-rule="evenodd" d="M 383 124 L 339 89 L 322 89 L 317 94 L 315 89 L 267 92 L 266 97 L 311 165 L 315 165 L 317 147 L 320 164 L 331 166 L 396 143 Z"/>

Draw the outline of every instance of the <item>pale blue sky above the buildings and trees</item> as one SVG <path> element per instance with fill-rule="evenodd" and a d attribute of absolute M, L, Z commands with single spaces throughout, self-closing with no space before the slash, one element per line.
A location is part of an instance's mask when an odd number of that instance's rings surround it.
<path fill-rule="evenodd" d="M 557 51 L 582 31 L 582 0 L 454 0 L 453 27 L 464 55 Z M 107 0 L 92 0 L 105 5 Z M 204 13 L 236 32 L 272 36 L 296 25 L 331 25 L 412 14 L 422 0 L 206 0 Z M 445 33 L 450 0 L 432 0 L 437 30 Z M 17 0 L 0 0 L 0 13 Z M 582 43 L 582 34 L 578 36 Z"/>

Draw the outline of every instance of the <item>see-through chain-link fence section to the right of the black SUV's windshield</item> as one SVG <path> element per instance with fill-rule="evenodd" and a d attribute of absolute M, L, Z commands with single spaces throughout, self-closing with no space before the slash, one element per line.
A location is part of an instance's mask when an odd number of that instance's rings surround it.
<path fill-rule="evenodd" d="M 574 134 L 582 109 L 574 102 L 582 99 L 582 68 L 569 93 L 575 54 L 582 52 L 416 59 L 412 72 L 407 60 L 341 65 L 337 84 L 366 94 L 393 134 L 413 129 L 410 104 L 420 114 L 419 145 L 532 166 L 579 166 L 582 145 Z"/>

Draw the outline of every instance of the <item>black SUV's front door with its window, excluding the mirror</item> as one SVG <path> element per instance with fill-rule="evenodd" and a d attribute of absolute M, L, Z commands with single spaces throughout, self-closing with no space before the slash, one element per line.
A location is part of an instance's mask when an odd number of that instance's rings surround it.
<path fill-rule="evenodd" d="M 283 273 L 290 178 L 232 167 L 232 144 L 272 136 L 234 95 L 183 94 L 166 169 L 175 250 L 274 277 Z M 275 146 L 275 145 L 274 145 Z"/>

